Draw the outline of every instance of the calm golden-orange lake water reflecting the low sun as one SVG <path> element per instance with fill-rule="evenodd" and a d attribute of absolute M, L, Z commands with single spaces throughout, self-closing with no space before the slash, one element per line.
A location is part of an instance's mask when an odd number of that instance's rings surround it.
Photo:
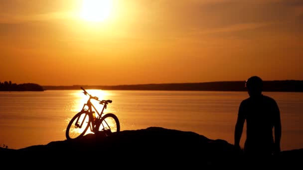
<path fill-rule="evenodd" d="M 123 130 L 163 127 L 192 131 L 233 144 L 240 102 L 247 92 L 87 90 L 110 99 L 105 110 L 118 116 Z M 282 120 L 281 149 L 303 148 L 303 93 L 264 92 L 276 99 Z M 0 144 L 11 149 L 65 140 L 69 119 L 88 96 L 82 90 L 0 91 Z M 96 104 L 101 109 L 100 104 Z M 245 128 L 245 127 L 244 127 Z M 241 138 L 243 147 L 245 129 Z"/>

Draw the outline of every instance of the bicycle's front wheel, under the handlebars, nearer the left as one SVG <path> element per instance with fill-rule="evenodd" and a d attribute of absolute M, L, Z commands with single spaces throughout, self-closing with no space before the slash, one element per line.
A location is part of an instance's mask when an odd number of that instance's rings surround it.
<path fill-rule="evenodd" d="M 90 125 L 90 116 L 88 111 L 80 111 L 69 122 L 66 128 L 66 139 L 80 139 L 87 131 Z"/>

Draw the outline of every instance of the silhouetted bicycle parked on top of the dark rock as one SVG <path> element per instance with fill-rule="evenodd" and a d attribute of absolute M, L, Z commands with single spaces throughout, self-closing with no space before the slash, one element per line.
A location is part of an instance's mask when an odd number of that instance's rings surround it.
<path fill-rule="evenodd" d="M 112 103 L 112 100 L 99 100 L 98 97 L 92 96 L 83 87 L 80 88 L 83 90 L 85 95 L 89 95 L 89 98 L 83 105 L 81 111 L 78 112 L 68 123 L 65 132 L 66 139 L 76 140 L 82 138 L 87 132 L 88 127 L 90 127 L 91 132 L 105 132 L 106 136 L 115 132 L 120 132 L 120 122 L 118 117 L 113 113 L 104 113 L 107 105 Z M 100 113 L 91 102 L 91 99 L 97 100 L 99 101 L 99 104 L 103 105 Z"/>

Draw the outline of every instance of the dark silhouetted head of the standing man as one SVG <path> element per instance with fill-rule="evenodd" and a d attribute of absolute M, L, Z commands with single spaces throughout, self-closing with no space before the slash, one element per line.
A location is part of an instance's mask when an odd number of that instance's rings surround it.
<path fill-rule="evenodd" d="M 245 87 L 250 96 L 259 95 L 262 93 L 263 81 L 258 76 L 253 76 L 245 82 Z"/>

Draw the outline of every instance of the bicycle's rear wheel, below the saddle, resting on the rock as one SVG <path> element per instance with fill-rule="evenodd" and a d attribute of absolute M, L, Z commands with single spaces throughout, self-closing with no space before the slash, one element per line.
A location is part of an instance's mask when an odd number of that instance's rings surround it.
<path fill-rule="evenodd" d="M 97 129 L 105 131 L 107 135 L 113 132 L 120 132 L 120 122 L 118 117 L 113 113 L 107 113 L 100 119 Z"/>

